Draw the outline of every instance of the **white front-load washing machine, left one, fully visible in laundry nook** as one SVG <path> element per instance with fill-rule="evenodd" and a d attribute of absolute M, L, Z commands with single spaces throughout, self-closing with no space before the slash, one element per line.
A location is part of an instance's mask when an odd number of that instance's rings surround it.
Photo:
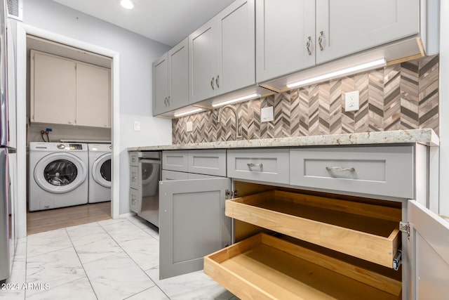
<path fill-rule="evenodd" d="M 88 148 L 83 143 L 29 143 L 29 211 L 88 202 Z"/>

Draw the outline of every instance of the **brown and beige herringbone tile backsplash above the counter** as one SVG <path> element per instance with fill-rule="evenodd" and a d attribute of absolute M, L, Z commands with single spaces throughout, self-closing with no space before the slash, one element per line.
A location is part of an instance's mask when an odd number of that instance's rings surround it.
<path fill-rule="evenodd" d="M 243 139 L 431 128 L 438 134 L 438 56 L 314 84 L 234 105 Z M 360 91 L 360 109 L 344 112 L 344 93 Z M 260 122 L 273 106 L 274 121 Z M 173 119 L 173 143 L 232 141 L 235 117 L 217 110 Z M 186 122 L 193 131 L 186 132 Z"/>

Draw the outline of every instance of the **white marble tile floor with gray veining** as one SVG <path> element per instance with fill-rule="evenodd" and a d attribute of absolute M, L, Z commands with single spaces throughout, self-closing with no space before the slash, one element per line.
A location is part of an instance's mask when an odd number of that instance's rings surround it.
<path fill-rule="evenodd" d="M 159 234 L 137 216 L 18 242 L 0 299 L 238 300 L 202 271 L 159 280 Z"/>

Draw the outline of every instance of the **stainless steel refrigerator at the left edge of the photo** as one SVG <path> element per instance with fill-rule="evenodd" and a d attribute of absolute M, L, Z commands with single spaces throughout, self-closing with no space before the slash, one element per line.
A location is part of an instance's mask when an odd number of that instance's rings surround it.
<path fill-rule="evenodd" d="M 9 116 L 6 46 L 6 6 L 5 1 L 0 0 L 0 281 L 10 275 L 15 248 L 11 197 L 11 157 L 15 157 L 12 141 L 15 136 L 10 136 L 10 122 L 13 121 Z M 15 99 L 11 102 L 15 105 Z"/>

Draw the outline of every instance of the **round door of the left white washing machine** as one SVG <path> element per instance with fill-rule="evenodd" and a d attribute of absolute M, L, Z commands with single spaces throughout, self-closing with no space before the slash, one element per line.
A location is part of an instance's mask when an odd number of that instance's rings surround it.
<path fill-rule="evenodd" d="M 47 155 L 34 167 L 34 181 L 49 193 L 68 193 L 86 178 L 86 164 L 67 152 Z"/>

